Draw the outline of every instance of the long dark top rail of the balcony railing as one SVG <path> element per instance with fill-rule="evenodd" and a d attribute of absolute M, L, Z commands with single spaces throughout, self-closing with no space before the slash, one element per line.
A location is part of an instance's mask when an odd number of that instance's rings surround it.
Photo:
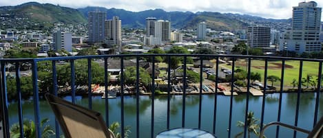
<path fill-rule="evenodd" d="M 189 57 L 222 57 L 222 58 L 262 58 L 273 60 L 302 60 L 312 62 L 323 62 L 323 59 L 313 58 L 291 58 L 281 56 L 249 56 L 249 55 L 221 55 L 221 54 L 119 54 L 119 55 L 92 55 L 92 56 L 59 56 L 49 58 L 2 58 L 1 62 L 32 62 L 32 61 L 45 61 L 45 60 L 77 60 L 82 58 L 119 58 L 119 57 L 145 57 L 145 56 L 189 56 Z"/>

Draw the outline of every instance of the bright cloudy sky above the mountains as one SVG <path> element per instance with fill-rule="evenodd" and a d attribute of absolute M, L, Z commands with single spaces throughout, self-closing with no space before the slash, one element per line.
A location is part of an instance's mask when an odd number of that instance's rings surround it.
<path fill-rule="evenodd" d="M 118 8 L 133 12 L 160 8 L 166 11 L 221 12 L 261 16 L 271 19 L 289 19 L 292 7 L 300 0 L 34 0 L 39 3 L 52 3 L 70 8 L 100 6 Z M 19 5 L 30 0 L 1 0 L 0 6 Z M 323 7 L 323 0 L 315 1 Z M 323 16 L 322 16 L 323 21 Z"/>

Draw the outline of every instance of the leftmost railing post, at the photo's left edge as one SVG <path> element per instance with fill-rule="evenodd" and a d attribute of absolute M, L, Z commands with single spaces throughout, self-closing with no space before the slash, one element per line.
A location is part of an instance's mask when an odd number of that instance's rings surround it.
<path fill-rule="evenodd" d="M 7 97 L 7 80 L 6 80 L 6 65 L 1 62 L 1 122 L 3 128 L 3 137 L 10 137 L 9 133 L 9 117 L 8 117 L 8 97 Z"/>

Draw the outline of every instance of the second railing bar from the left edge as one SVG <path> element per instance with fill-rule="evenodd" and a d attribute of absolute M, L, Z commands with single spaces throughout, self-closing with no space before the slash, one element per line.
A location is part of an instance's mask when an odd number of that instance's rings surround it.
<path fill-rule="evenodd" d="M 21 99 L 21 82 L 20 82 L 20 65 L 19 62 L 16 62 L 16 86 L 18 93 L 18 116 L 19 116 L 19 132 L 20 137 L 23 136 L 23 107 L 22 107 L 22 99 Z"/>

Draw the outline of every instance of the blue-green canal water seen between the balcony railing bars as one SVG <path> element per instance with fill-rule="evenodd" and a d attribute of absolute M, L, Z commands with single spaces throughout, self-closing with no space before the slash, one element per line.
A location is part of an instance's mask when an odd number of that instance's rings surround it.
<path fill-rule="evenodd" d="M 322 95 L 322 94 L 321 94 Z M 70 100 L 70 97 L 65 97 Z M 282 94 L 282 111 L 281 122 L 293 125 L 295 121 L 297 93 Z M 315 93 L 302 93 L 300 97 L 300 112 L 298 126 L 311 130 L 313 127 L 313 118 L 315 111 Z M 87 107 L 87 97 L 77 97 L 76 104 Z M 264 108 L 264 124 L 274 122 L 278 117 L 279 94 L 269 94 L 266 96 Z M 154 135 L 167 128 L 167 96 L 156 96 L 154 100 Z M 170 127 L 181 127 L 182 124 L 182 105 L 183 96 L 174 95 L 170 99 Z M 229 106 L 230 97 L 218 95 L 216 112 L 216 136 L 228 137 L 227 128 L 229 126 Z M 140 96 L 140 137 L 150 137 L 151 132 L 151 110 L 152 100 L 149 96 Z M 185 127 L 198 127 L 198 106 L 199 95 L 187 95 L 185 108 Z M 202 95 L 202 119 L 201 128 L 209 132 L 213 131 L 213 108 L 214 95 Z M 244 121 L 246 108 L 246 95 L 233 97 L 233 113 L 231 137 L 240 133 L 243 128 L 236 126 L 238 121 Z M 249 111 L 255 113 L 255 117 L 260 120 L 262 108 L 262 97 L 249 97 Z M 105 117 L 105 100 L 101 97 L 93 97 L 93 109 L 103 113 Z M 50 124 L 54 128 L 54 115 L 48 106 L 48 103 L 40 101 L 41 118 L 49 117 Z M 34 108 L 30 101 L 23 102 L 23 117 L 25 119 L 34 119 Z M 121 99 L 109 99 L 109 115 L 111 122 L 121 122 Z M 323 115 L 323 98 L 320 98 L 319 117 Z M 9 105 L 10 124 L 18 122 L 17 103 Z M 260 123 L 260 121 L 259 121 Z M 136 97 L 125 97 L 125 126 L 131 126 L 132 133 L 130 137 L 136 137 Z M 267 129 L 267 137 L 275 137 L 275 127 Z M 293 131 L 280 128 L 280 137 L 292 137 Z M 298 137 L 305 137 L 304 134 L 298 133 Z"/>

